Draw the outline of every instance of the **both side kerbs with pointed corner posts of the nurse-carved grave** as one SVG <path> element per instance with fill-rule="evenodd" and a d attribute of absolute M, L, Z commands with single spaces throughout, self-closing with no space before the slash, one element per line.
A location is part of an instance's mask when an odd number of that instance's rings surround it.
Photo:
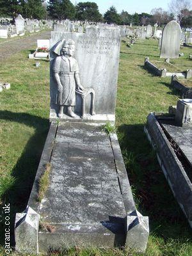
<path fill-rule="evenodd" d="M 65 122 L 60 122 L 60 124 L 62 123 Z M 38 253 L 38 228 L 40 224 L 40 215 L 38 214 L 40 210 L 40 202 L 38 202 L 38 182 L 45 172 L 45 166 L 50 163 L 57 130 L 58 122 L 51 122 L 27 208 L 24 212 L 16 214 L 15 250 L 17 251 L 21 251 L 22 248 L 24 252 Z M 142 216 L 140 212 L 136 210 L 116 133 L 110 133 L 109 138 L 113 150 L 118 182 L 120 184 L 127 214 L 124 225 L 126 234 L 125 244 L 128 247 L 134 248 L 137 252 L 145 252 L 149 235 L 148 216 Z"/>

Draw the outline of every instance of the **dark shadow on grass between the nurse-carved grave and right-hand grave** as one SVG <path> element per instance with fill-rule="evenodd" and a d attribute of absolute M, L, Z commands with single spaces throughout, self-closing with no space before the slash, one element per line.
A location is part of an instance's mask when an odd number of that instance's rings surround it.
<path fill-rule="evenodd" d="M 138 210 L 149 216 L 150 232 L 154 235 L 192 241 L 188 221 L 173 197 L 143 129 L 144 124 L 118 127 L 120 147 Z"/>

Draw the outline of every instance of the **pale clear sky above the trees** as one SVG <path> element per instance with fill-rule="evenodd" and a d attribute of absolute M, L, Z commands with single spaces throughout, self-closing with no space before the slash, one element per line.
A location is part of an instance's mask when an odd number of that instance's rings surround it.
<path fill-rule="evenodd" d="M 168 10 L 168 3 L 171 0 L 71 0 L 73 4 L 79 2 L 94 2 L 99 6 L 99 12 L 104 14 L 111 5 L 115 6 L 118 13 L 122 12 L 122 10 L 127 11 L 128 13 L 150 13 L 153 8 L 163 8 L 164 10 Z"/>

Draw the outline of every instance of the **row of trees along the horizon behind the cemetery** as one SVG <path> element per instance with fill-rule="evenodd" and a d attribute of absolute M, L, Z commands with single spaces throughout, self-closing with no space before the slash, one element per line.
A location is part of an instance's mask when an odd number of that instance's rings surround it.
<path fill-rule="evenodd" d="M 15 18 L 20 13 L 29 19 L 70 19 L 88 20 L 90 22 L 108 22 L 118 25 L 154 25 L 167 24 L 170 20 L 177 19 L 181 26 L 192 26 L 192 11 L 188 0 L 172 0 L 170 12 L 162 8 L 155 8 L 150 13 L 129 14 L 122 10 L 118 13 L 115 6 L 111 6 L 104 15 L 99 12 L 97 3 L 78 3 L 76 6 L 70 0 L 0 0 L 0 16 Z"/>

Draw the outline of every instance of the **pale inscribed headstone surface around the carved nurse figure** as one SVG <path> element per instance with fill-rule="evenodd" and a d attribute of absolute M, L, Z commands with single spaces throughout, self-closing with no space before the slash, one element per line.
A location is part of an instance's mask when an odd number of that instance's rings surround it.
<path fill-rule="evenodd" d="M 73 40 L 76 46 L 75 60 L 72 59 L 72 61 L 77 64 L 72 67 L 72 69 L 74 68 L 73 72 L 78 73 L 79 70 L 81 84 L 86 89 L 84 93 L 91 89 L 95 92 L 95 104 L 91 102 L 93 100 L 92 93 L 87 96 L 88 102 L 85 102 L 84 113 L 86 115 L 84 115 L 84 118 L 91 120 L 114 120 L 120 51 L 120 29 L 93 26 L 87 27 L 86 33 L 84 34 L 51 33 L 50 118 L 57 118 L 60 109 L 58 97 L 60 97 L 61 93 L 58 93 L 58 84 L 56 83 L 54 72 L 57 69 L 56 60 L 63 62 L 60 48 L 65 47 L 65 43 L 68 42 L 68 40 Z M 56 46 L 57 44 L 58 46 Z M 56 51 L 53 51 L 54 48 L 58 51 L 57 54 L 55 53 Z M 111 65 L 111 63 L 113 63 L 113 65 Z M 74 92 L 72 93 L 74 95 Z M 72 106 L 76 105 L 75 112 L 79 115 L 79 113 L 83 112 L 82 97 L 77 94 L 78 93 L 75 95 L 76 99 L 72 97 L 73 99 L 71 100 L 73 102 Z M 76 102 L 76 104 L 74 104 L 74 102 Z M 90 105 L 93 104 L 95 105 L 94 112 L 96 115 L 92 115 L 91 113 L 92 108 Z M 79 116 L 81 116 L 81 114 Z M 68 118 L 68 116 L 63 115 L 63 118 Z"/>

